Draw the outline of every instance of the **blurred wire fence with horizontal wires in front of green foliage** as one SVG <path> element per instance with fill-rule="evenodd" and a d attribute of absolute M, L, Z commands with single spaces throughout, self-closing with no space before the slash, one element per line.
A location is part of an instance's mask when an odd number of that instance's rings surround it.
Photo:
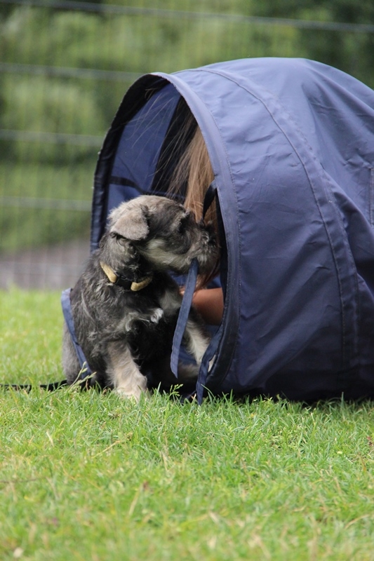
<path fill-rule="evenodd" d="M 374 86 L 374 25 L 255 17 L 227 0 L 119 4 L 0 0 L 0 288 L 74 282 L 98 150 L 141 74 L 305 56 Z"/>

